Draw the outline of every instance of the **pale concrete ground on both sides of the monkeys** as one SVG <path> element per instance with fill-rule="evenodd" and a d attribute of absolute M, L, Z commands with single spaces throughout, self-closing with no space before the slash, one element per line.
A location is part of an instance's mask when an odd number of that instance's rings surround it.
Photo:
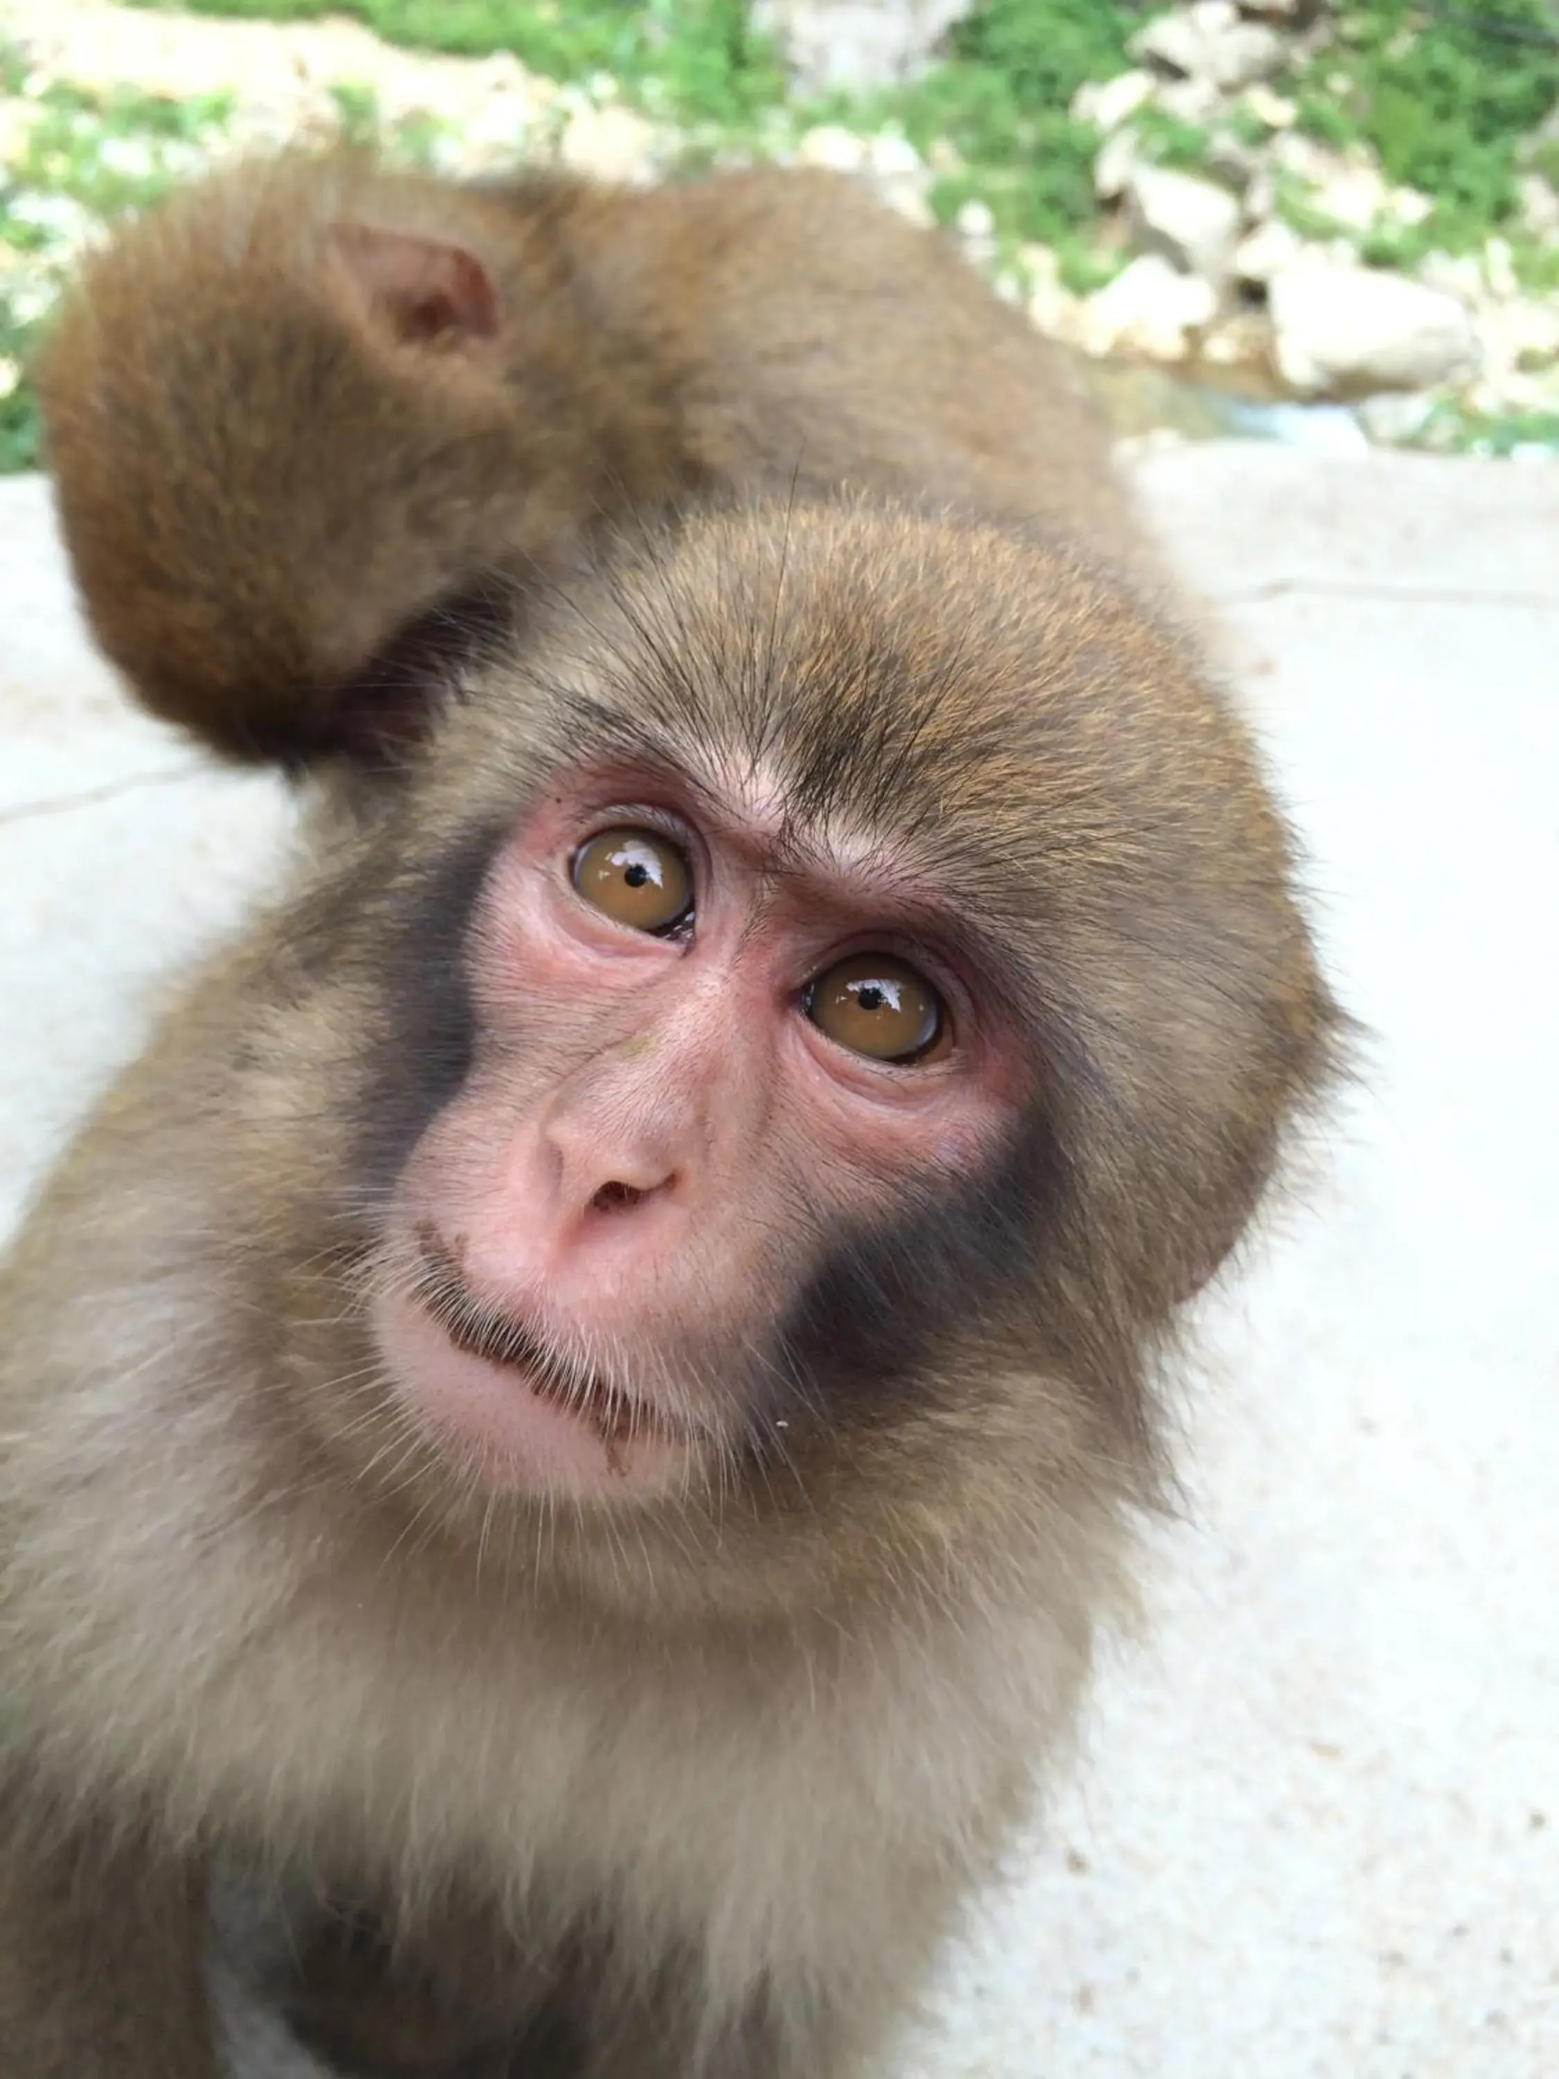
<path fill-rule="evenodd" d="M 1370 1027 L 1208 1312 L 1147 1644 L 904 2079 L 1559 2073 L 1559 468 L 1139 464 Z M 287 809 L 118 705 L 0 486 L 0 1225 Z"/>

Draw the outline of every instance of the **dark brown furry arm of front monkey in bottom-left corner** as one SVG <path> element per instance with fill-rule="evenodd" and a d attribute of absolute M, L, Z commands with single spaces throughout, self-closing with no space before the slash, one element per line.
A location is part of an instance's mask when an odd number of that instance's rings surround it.
<path fill-rule="evenodd" d="M 216 2079 L 202 1886 L 89 1834 L 35 1840 L 0 1798 L 6 2079 Z"/>

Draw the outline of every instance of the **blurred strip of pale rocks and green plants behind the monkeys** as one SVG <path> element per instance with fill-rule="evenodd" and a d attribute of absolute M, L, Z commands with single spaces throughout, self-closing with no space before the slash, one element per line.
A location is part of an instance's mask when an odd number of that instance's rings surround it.
<path fill-rule="evenodd" d="M 0 0 L 0 468 L 108 214 L 243 143 L 856 170 L 1127 435 L 1559 447 L 1555 0 Z"/>

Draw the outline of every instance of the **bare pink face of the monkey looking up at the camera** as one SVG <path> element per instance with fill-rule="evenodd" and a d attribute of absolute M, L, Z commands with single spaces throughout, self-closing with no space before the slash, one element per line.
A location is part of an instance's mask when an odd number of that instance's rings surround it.
<path fill-rule="evenodd" d="M 393 1195 L 374 1335 L 416 1418 L 574 1497 L 788 1459 L 788 1316 L 985 1175 L 1031 1094 L 958 940 L 933 873 L 798 821 L 777 765 L 557 775 L 486 875 L 472 1067 Z"/>

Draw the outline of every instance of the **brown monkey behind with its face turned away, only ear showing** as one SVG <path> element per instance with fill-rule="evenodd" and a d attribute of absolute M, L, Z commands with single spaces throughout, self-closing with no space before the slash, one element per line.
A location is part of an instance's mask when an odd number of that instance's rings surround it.
<path fill-rule="evenodd" d="M 495 568 L 709 489 L 848 482 L 1139 549 L 1056 349 L 823 170 L 241 160 L 87 258 L 35 376 L 98 642 L 239 759 L 393 744 L 397 688 L 414 734 Z"/>

